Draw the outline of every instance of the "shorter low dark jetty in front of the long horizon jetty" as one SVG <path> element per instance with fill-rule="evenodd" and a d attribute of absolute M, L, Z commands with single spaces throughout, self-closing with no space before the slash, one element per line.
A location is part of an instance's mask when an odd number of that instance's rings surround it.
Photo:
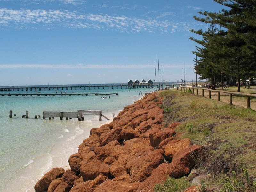
<path fill-rule="evenodd" d="M 118 93 L 14 93 L 14 94 L 0 94 L 1 96 L 48 96 L 48 95 L 52 95 L 52 96 L 66 96 L 66 95 L 118 95 Z"/>

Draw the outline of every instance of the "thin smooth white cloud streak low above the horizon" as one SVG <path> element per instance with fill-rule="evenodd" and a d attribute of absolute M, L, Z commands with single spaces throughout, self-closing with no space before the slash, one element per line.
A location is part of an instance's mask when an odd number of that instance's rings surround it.
<path fill-rule="evenodd" d="M 180 68 L 180 65 L 176 64 L 163 64 L 163 68 Z M 0 69 L 21 69 L 21 68 L 41 68 L 41 69 L 135 69 L 135 68 L 155 68 L 153 64 L 141 64 L 141 65 L 37 65 L 37 64 L 10 64 L 0 65 Z M 72 76 L 72 74 L 68 74 Z"/>

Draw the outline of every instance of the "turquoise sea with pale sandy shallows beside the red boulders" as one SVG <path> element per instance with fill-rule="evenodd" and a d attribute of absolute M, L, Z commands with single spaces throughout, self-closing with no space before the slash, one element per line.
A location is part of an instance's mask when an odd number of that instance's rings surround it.
<path fill-rule="evenodd" d="M 62 90 L 61 90 L 62 91 Z M 34 185 L 44 173 L 54 167 L 68 169 L 68 158 L 90 134 L 90 129 L 110 123 L 124 106 L 142 98 L 154 89 L 63 90 L 67 93 L 116 93 L 110 99 L 103 96 L 4 96 L 0 97 L 0 191 L 34 192 Z M 54 93 L 40 91 L 41 93 Z M 27 93 L 27 91 L 0 92 Z M 35 93 L 28 91 L 28 93 Z M 60 93 L 60 90 L 58 91 Z M 9 118 L 12 110 L 13 118 Z M 26 110 L 29 119 L 22 118 Z M 84 121 L 42 119 L 43 111 L 102 110 L 110 121 L 98 116 L 85 116 Z M 16 116 L 14 116 L 16 114 Z M 35 119 L 35 115 L 41 118 Z"/>

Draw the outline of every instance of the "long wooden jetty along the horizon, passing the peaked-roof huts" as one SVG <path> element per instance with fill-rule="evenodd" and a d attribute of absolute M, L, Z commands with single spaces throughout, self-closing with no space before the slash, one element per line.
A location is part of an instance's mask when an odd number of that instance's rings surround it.
<path fill-rule="evenodd" d="M 162 85 L 162 84 L 161 84 Z M 160 86 L 161 86 L 160 85 Z M 173 84 L 163 84 L 165 86 L 172 86 Z M 0 87 L 0 91 L 50 91 L 50 90 L 91 90 L 91 89 L 140 89 L 140 88 L 154 88 L 158 84 L 101 84 L 101 85 L 60 85 L 60 86 L 24 86 L 24 87 Z"/>

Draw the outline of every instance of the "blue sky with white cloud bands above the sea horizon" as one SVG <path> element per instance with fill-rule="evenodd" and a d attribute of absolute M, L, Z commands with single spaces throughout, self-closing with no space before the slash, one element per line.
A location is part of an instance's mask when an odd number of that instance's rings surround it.
<path fill-rule="evenodd" d="M 198 11 L 213 0 L 0 0 L 0 86 L 196 80 Z M 198 37 L 197 37 L 198 38 Z M 156 70 L 157 71 L 157 70 Z M 158 79 L 158 77 L 157 77 Z"/>

